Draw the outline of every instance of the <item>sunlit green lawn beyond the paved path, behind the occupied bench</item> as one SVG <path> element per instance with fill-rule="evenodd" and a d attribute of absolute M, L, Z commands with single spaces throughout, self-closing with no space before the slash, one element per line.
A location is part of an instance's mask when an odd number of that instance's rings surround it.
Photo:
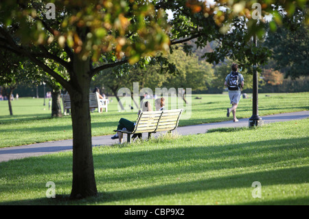
<path fill-rule="evenodd" d="M 309 109 L 307 93 L 272 93 L 259 95 L 259 115 L 271 115 Z M 270 95 L 270 96 L 269 96 Z M 251 95 L 249 95 L 251 96 Z M 195 99 L 201 97 L 201 99 Z M 137 113 L 119 112 L 117 102 L 108 105 L 108 113 L 91 113 L 92 135 L 111 135 L 117 127 L 120 117 L 134 121 Z M 46 101 L 47 102 L 47 101 Z M 227 94 L 192 95 L 192 115 L 190 119 L 181 119 L 179 126 L 221 122 L 229 107 Z M 13 116 L 9 115 L 8 101 L 0 101 L 0 147 L 21 146 L 30 143 L 71 139 L 71 116 L 51 119 L 48 105 L 43 99 L 19 98 L 12 102 Z M 251 117 L 252 99 L 242 99 L 237 110 L 238 118 Z"/>

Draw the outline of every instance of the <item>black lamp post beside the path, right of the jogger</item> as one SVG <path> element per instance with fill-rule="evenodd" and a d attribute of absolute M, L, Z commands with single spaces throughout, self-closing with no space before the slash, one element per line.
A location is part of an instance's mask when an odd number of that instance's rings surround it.
<path fill-rule="evenodd" d="M 257 47 L 257 38 L 256 35 L 253 36 L 253 45 Z M 249 127 L 252 126 L 261 126 L 264 122 L 262 117 L 259 116 L 258 110 L 258 71 L 257 64 L 253 65 L 253 109 L 252 116 L 249 118 Z"/>

